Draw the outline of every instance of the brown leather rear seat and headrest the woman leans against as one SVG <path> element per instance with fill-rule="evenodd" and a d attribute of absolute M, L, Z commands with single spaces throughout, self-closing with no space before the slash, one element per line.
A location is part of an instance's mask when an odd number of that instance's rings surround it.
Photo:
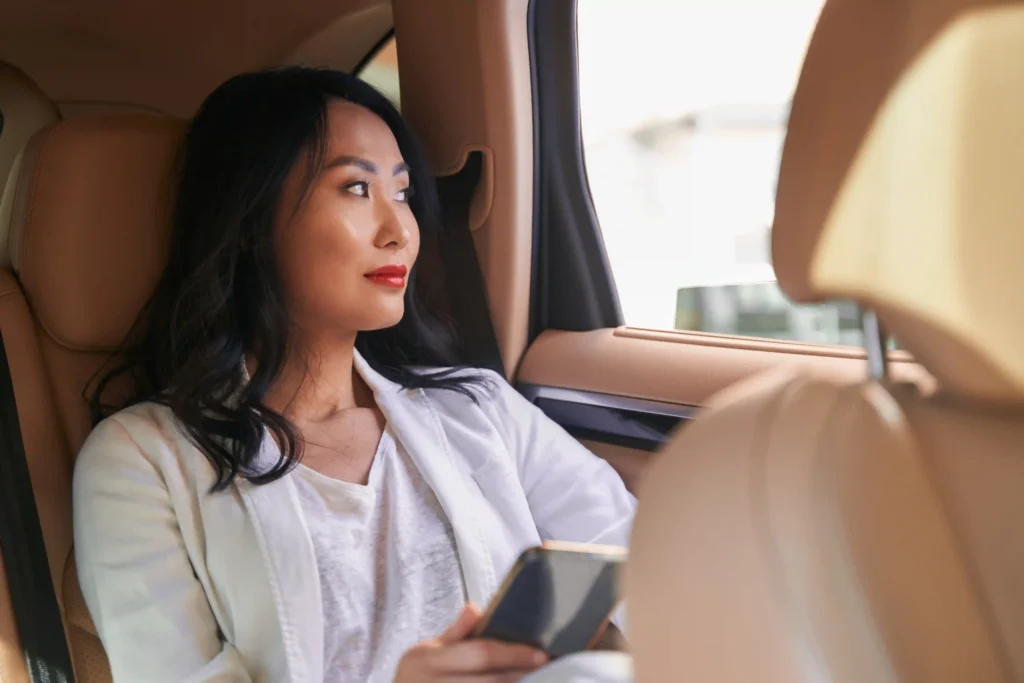
<path fill-rule="evenodd" d="M 0 270 L 0 333 L 80 683 L 110 680 L 72 556 L 71 474 L 90 429 L 83 390 L 159 278 L 182 132 L 181 122 L 140 116 L 67 121 L 37 134 L 25 152 L 11 226 L 18 275 Z M 2 596 L 0 683 L 22 683 Z"/>

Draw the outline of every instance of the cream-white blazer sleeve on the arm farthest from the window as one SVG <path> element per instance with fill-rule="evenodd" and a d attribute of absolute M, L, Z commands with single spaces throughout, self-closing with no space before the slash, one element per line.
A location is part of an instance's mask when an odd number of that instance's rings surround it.
<path fill-rule="evenodd" d="M 245 683 L 222 642 L 159 467 L 117 418 L 75 466 L 75 559 L 115 683 Z"/>

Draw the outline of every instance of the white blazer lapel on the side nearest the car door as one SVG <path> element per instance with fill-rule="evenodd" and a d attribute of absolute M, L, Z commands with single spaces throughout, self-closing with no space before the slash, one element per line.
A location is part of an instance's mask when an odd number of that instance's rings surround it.
<path fill-rule="evenodd" d="M 355 369 L 374 391 L 391 430 L 427 481 L 455 531 L 459 560 L 470 602 L 483 602 L 498 588 L 495 567 L 465 479 L 425 392 L 403 389 L 374 371 L 358 354 Z"/>

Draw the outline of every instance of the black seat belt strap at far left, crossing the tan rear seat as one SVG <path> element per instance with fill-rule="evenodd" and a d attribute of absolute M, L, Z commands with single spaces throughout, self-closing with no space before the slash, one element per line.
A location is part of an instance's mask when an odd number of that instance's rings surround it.
<path fill-rule="evenodd" d="M 32 683 L 73 683 L 60 607 L 29 476 L 14 384 L 0 336 L 0 552 Z"/>

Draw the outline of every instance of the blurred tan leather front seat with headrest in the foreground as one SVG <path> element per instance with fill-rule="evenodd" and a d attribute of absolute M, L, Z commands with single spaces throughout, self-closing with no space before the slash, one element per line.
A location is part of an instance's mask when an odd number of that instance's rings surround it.
<path fill-rule="evenodd" d="M 640 487 L 638 683 L 1024 680 L 1022 78 L 1024 3 L 825 5 L 779 280 L 877 309 L 939 391 L 785 370 L 717 396 Z"/>

